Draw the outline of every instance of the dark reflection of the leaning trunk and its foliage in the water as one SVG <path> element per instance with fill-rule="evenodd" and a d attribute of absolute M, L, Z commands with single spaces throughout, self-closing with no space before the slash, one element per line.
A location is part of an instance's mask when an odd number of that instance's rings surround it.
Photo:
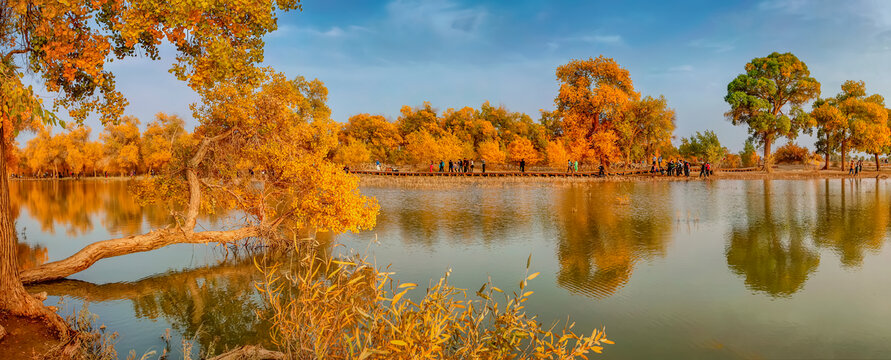
<path fill-rule="evenodd" d="M 170 271 L 133 282 L 93 284 L 62 280 L 28 287 L 50 296 L 86 302 L 129 300 L 137 318 L 164 319 L 202 349 L 268 344 L 269 325 L 258 316 L 263 303 L 254 290 L 260 280 L 250 257 L 213 266 Z"/>

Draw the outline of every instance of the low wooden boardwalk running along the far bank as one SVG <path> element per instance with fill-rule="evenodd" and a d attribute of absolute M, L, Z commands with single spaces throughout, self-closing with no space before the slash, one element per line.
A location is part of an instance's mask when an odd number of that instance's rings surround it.
<path fill-rule="evenodd" d="M 695 171 L 694 171 L 695 170 Z M 757 168 L 721 169 L 718 172 L 747 172 Z M 456 176 L 456 177 L 603 177 L 603 176 L 668 176 L 652 174 L 649 170 L 615 171 L 606 175 L 592 172 L 536 172 L 536 171 L 497 171 L 497 172 L 438 172 L 438 171 L 375 171 L 375 170 L 349 170 L 350 174 L 379 175 L 379 176 Z M 699 168 L 691 168 L 690 176 L 699 174 Z"/>

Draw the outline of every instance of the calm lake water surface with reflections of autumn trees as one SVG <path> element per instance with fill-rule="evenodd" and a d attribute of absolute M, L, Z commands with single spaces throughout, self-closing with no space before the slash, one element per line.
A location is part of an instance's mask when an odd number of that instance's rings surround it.
<path fill-rule="evenodd" d="M 891 188 L 877 180 L 364 187 L 378 226 L 333 241 L 425 283 L 452 269 L 511 288 L 532 254 L 528 310 L 580 331 L 605 326 L 604 358 L 891 356 Z M 20 261 L 163 226 L 124 182 L 14 181 Z M 225 216 L 205 228 L 227 228 Z M 171 329 L 204 348 L 268 344 L 250 258 L 176 245 L 105 259 L 40 285 L 63 312 L 84 302 L 126 353 L 161 351 Z M 515 286 L 515 285 L 513 285 Z"/>

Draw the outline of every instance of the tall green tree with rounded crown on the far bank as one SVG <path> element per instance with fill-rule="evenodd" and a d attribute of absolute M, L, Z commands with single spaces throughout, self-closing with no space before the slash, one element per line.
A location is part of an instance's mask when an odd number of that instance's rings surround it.
<path fill-rule="evenodd" d="M 749 134 L 764 147 L 764 170 L 771 172 L 773 142 L 811 129 L 811 118 L 801 106 L 820 95 L 820 83 L 792 53 L 752 59 L 745 69 L 727 85 L 724 101 L 730 111 L 725 116 L 733 125 L 749 127 Z"/>

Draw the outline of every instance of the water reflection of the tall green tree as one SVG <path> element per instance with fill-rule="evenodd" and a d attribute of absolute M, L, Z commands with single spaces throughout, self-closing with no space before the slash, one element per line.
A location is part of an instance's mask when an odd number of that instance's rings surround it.
<path fill-rule="evenodd" d="M 748 288 L 789 296 L 801 289 L 820 264 L 819 254 L 808 241 L 809 214 L 799 206 L 794 191 L 774 194 L 771 180 L 746 185 L 753 191 L 745 197 L 745 218 L 731 224 L 727 265 L 745 279 Z"/>

